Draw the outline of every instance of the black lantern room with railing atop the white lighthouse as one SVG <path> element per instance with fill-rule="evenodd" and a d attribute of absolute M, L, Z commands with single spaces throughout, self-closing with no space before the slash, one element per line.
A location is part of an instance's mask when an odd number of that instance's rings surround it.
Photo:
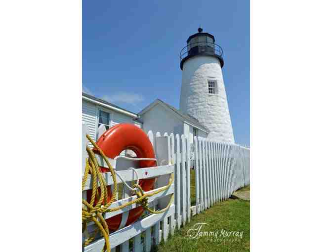
<path fill-rule="evenodd" d="M 222 48 L 215 43 L 213 35 L 204 33 L 198 28 L 198 33 L 191 35 L 187 40 L 187 45 L 180 52 L 180 68 L 183 69 L 184 62 L 197 55 L 211 55 L 219 59 L 221 68 L 224 66 L 222 59 Z"/>

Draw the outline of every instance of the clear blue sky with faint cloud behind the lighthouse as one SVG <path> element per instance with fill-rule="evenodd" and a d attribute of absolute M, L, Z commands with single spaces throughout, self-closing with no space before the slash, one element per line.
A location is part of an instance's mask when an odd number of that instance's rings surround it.
<path fill-rule="evenodd" d="M 132 112 L 179 108 L 179 53 L 201 24 L 224 51 L 235 141 L 249 145 L 249 0 L 83 0 L 83 90 Z"/>

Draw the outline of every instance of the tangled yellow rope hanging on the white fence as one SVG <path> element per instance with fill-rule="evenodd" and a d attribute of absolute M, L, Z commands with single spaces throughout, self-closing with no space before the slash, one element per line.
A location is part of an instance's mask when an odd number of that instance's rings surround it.
<path fill-rule="evenodd" d="M 172 202 L 174 200 L 174 194 L 172 194 L 170 201 L 169 201 L 168 205 L 166 206 L 166 208 L 163 210 L 157 210 L 157 211 L 152 210 L 148 207 L 149 206 L 148 197 L 151 197 L 160 192 L 166 191 L 174 181 L 174 174 L 171 173 L 169 182 L 166 186 L 161 187 L 152 193 L 145 193 L 140 185 L 134 184 L 133 188 L 138 188 L 138 190 L 135 191 L 135 193 L 137 195 L 137 199 L 135 199 L 131 202 L 128 202 L 122 206 L 109 209 L 109 207 L 112 205 L 112 203 L 114 203 L 116 201 L 115 196 L 118 192 L 118 183 L 117 183 L 116 174 L 115 174 L 114 168 L 111 166 L 111 164 L 109 163 L 108 159 L 106 158 L 106 156 L 104 155 L 102 150 L 96 145 L 96 143 L 91 139 L 91 137 L 89 135 L 86 135 L 86 138 L 90 141 L 90 143 L 93 145 L 93 147 L 102 156 L 102 158 L 105 160 L 108 168 L 110 169 L 112 179 L 114 181 L 114 190 L 113 190 L 112 198 L 111 198 L 110 202 L 107 203 L 107 187 L 106 187 L 107 183 L 105 181 L 105 178 L 104 178 L 102 172 L 100 171 L 100 168 L 99 168 L 99 165 L 98 165 L 98 162 L 97 162 L 97 159 L 96 159 L 94 153 L 92 152 L 92 150 L 90 148 L 88 148 L 86 146 L 88 159 L 86 159 L 86 163 L 85 163 L 85 171 L 84 171 L 83 180 L 82 180 L 82 191 L 83 191 L 83 189 L 85 187 L 85 183 L 87 181 L 87 175 L 90 172 L 91 180 L 92 180 L 92 194 L 91 194 L 90 202 L 87 202 L 86 200 L 82 201 L 82 203 L 83 203 L 83 207 L 82 207 L 82 229 L 83 230 L 82 230 L 82 233 L 85 231 L 88 222 L 93 221 L 95 223 L 95 225 L 97 226 L 97 228 L 92 232 L 92 235 L 84 241 L 83 246 L 85 247 L 89 243 L 91 243 L 95 239 L 98 231 L 100 231 L 105 239 L 105 245 L 104 245 L 102 252 L 104 252 L 105 250 L 107 252 L 111 252 L 111 247 L 110 247 L 110 242 L 109 242 L 110 234 L 109 234 L 107 223 L 104 218 L 105 213 L 117 211 L 117 210 L 123 209 L 127 206 L 130 206 L 132 204 L 135 204 L 135 203 L 140 204 L 145 210 L 148 210 L 151 213 L 165 212 L 172 204 Z M 100 195 L 98 192 L 98 188 L 100 188 Z M 98 202 L 94 206 L 95 199 L 98 199 Z M 103 203 L 106 205 L 103 206 L 102 205 Z"/>

